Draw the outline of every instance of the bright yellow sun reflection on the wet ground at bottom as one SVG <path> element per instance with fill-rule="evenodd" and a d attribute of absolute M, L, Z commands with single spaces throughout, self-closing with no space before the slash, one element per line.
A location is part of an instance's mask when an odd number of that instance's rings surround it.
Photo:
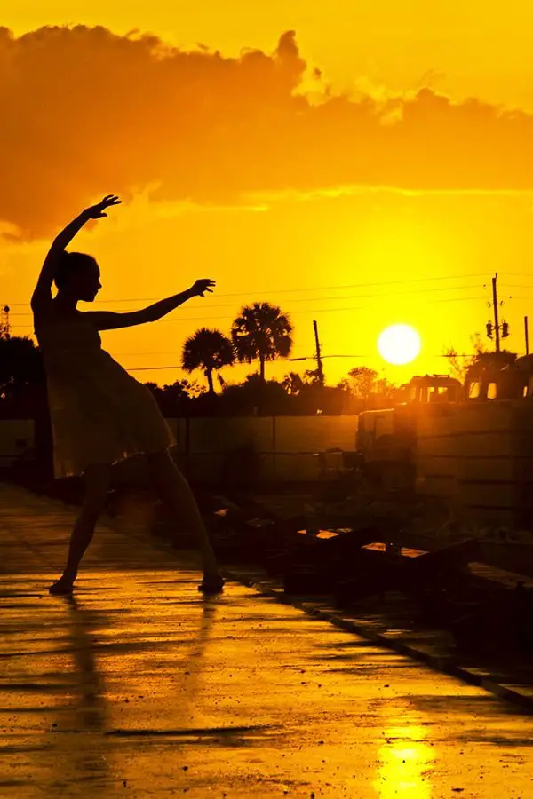
<path fill-rule="evenodd" d="M 380 766 L 374 787 L 381 799 L 405 796 L 409 799 L 430 799 L 435 750 L 425 739 L 425 727 L 388 727 L 386 745 L 378 752 Z"/>

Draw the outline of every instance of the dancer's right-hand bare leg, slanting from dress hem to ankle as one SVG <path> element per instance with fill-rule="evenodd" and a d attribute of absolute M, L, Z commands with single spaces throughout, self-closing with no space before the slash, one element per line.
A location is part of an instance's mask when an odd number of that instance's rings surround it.
<path fill-rule="evenodd" d="M 163 452 L 147 455 L 147 460 L 157 493 L 162 500 L 171 505 L 176 518 L 183 519 L 187 529 L 195 534 L 198 547 L 202 553 L 204 580 L 216 581 L 220 576 L 219 564 L 203 524 L 200 510 L 198 510 L 195 495 L 191 491 L 187 480 L 179 471 L 167 449 L 163 450 Z"/>

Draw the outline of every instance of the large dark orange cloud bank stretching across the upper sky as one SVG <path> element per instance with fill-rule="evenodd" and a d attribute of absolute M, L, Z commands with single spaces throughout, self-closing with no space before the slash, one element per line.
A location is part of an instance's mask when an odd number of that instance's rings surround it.
<path fill-rule="evenodd" d="M 313 81 L 293 31 L 232 59 L 101 27 L 0 28 L 0 235 L 49 235 L 102 192 L 154 184 L 155 199 L 215 205 L 345 186 L 533 188 L 522 111 L 430 89 L 317 102 L 298 92 Z"/>

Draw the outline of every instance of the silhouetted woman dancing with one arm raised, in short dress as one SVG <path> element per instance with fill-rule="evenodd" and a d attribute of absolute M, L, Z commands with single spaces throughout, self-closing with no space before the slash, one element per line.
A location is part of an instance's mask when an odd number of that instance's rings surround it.
<path fill-rule="evenodd" d="M 113 463 L 146 455 L 158 493 L 196 535 L 203 556 L 200 590 L 217 593 L 223 579 L 187 480 L 169 453 L 175 442 L 152 393 L 101 348 L 99 330 L 129 328 L 161 319 L 190 297 L 203 297 L 214 281 L 200 280 L 181 294 L 140 311 L 82 312 L 101 284 L 89 255 L 65 248 L 89 219 L 121 201 L 113 194 L 76 217 L 53 241 L 31 299 L 36 338 L 43 352 L 54 439 L 56 478 L 84 475 L 85 495 L 68 550 L 68 562 L 52 594 L 72 593 L 80 561 L 104 510 Z M 58 293 L 52 297 L 52 282 Z"/>

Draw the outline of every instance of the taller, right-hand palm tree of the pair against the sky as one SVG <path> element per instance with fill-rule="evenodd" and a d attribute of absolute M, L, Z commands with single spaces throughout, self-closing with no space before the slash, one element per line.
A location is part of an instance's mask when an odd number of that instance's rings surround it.
<path fill-rule="evenodd" d="M 241 362 L 259 358 L 259 377 L 265 382 L 265 361 L 288 358 L 292 349 L 292 325 L 282 309 L 269 303 L 244 305 L 231 328 Z"/>

